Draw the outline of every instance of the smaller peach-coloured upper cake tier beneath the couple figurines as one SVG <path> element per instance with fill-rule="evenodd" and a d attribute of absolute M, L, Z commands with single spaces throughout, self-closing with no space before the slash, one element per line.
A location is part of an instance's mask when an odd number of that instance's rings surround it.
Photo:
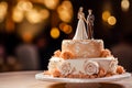
<path fill-rule="evenodd" d="M 70 52 L 75 58 L 100 57 L 102 50 L 102 40 L 64 40 L 62 43 L 62 52 Z"/>

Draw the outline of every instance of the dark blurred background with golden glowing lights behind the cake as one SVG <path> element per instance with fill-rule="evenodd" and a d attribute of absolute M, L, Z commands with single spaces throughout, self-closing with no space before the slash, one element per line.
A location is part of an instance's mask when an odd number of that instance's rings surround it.
<path fill-rule="evenodd" d="M 77 12 L 95 14 L 94 37 L 102 38 L 119 64 L 132 72 L 131 0 L 0 0 L 0 72 L 47 69 L 64 38 L 73 38 Z"/>

